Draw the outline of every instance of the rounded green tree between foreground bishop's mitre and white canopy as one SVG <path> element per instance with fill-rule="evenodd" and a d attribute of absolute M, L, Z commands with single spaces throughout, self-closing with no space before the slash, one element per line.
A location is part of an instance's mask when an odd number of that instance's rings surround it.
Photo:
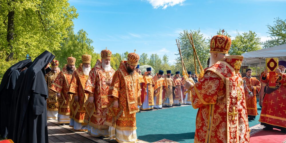
<path fill-rule="evenodd" d="M 257 37 L 255 32 L 249 31 L 239 33 L 235 36 L 235 39 L 231 41 L 231 48 L 229 49 L 229 55 L 241 55 L 242 53 L 256 51 L 261 49 L 260 38 Z"/>

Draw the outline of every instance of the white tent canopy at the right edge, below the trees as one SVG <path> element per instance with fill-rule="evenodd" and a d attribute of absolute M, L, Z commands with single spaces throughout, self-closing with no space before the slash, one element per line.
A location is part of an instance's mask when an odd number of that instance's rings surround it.
<path fill-rule="evenodd" d="M 265 58 L 278 57 L 286 61 L 286 44 L 241 54 L 244 66 L 265 67 Z"/>

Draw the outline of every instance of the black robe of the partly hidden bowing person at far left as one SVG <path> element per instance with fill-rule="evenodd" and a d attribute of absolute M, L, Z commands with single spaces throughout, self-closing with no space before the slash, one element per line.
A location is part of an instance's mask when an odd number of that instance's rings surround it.
<path fill-rule="evenodd" d="M 15 89 L 17 79 L 20 75 L 21 69 L 28 67 L 32 62 L 31 59 L 19 61 L 12 65 L 3 75 L 0 84 L 0 135 L 6 138 L 8 134 L 8 122 L 10 120 L 10 106 L 12 102 L 12 94 Z"/>

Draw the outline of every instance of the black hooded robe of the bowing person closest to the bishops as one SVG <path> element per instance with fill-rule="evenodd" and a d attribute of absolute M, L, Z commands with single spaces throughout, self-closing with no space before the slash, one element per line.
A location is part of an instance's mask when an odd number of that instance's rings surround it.
<path fill-rule="evenodd" d="M 15 93 L 18 97 L 13 121 L 13 138 L 15 143 L 48 142 L 47 132 L 47 102 L 48 88 L 45 74 L 51 68 L 45 69 L 54 59 L 49 51 L 41 53 L 31 66 L 24 71 L 21 85 Z"/>

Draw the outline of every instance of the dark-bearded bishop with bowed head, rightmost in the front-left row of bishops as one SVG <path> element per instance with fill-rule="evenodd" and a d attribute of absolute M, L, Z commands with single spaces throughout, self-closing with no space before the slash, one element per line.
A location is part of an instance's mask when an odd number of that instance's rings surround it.
<path fill-rule="evenodd" d="M 134 70 L 138 60 L 139 55 L 129 53 L 127 61 L 121 61 L 108 92 L 111 105 L 105 124 L 110 126 L 110 140 L 115 138 L 119 143 L 137 142 L 136 112 L 139 111 L 137 98 L 140 95 L 140 83 Z"/>

